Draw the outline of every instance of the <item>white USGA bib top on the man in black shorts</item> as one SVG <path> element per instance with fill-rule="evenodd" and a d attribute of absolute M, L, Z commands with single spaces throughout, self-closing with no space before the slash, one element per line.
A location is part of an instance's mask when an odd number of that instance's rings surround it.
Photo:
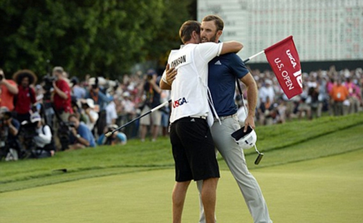
<path fill-rule="evenodd" d="M 171 123 L 190 115 L 207 116 L 210 113 L 208 62 L 221 53 L 222 46 L 223 43 L 189 43 L 180 50 L 171 50 L 168 64 L 178 70 L 171 84 Z M 166 80 L 166 73 L 162 80 Z"/>

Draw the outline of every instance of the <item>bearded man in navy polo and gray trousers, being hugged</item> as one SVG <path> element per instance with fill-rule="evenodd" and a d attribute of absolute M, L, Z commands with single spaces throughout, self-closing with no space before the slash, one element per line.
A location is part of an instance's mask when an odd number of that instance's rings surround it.
<path fill-rule="evenodd" d="M 218 43 L 223 32 L 223 20 L 216 15 L 208 15 L 203 18 L 201 24 L 201 41 Z M 248 171 L 245 156 L 241 146 L 236 144 L 231 134 L 241 128 L 239 119 L 236 116 L 237 106 L 234 102 L 234 90 L 236 77 L 238 77 L 247 88 L 248 115 L 245 119 L 244 127 L 255 127 L 254 110 L 257 104 L 257 84 L 245 64 L 236 54 L 230 53 L 215 57 L 209 63 L 208 86 L 211 91 L 212 100 L 216 113 L 221 120 L 215 120 L 211 127 L 212 137 L 217 150 L 227 166 L 230 168 L 236 180 L 248 209 L 252 215 L 254 223 L 270 223 L 270 215 L 266 201 L 263 198 L 261 188 L 254 176 Z M 179 73 L 179 71 L 178 71 Z M 176 70 L 171 68 L 167 71 L 167 81 L 172 83 L 178 75 Z M 203 181 L 198 181 L 198 190 L 201 191 Z M 200 223 L 205 222 L 203 205 L 201 204 Z"/>

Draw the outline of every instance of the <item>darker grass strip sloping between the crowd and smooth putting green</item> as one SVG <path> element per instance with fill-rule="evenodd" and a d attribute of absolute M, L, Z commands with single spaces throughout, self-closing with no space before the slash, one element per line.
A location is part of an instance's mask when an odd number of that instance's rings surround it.
<path fill-rule="evenodd" d="M 252 164 L 256 157 L 253 149 L 245 151 L 245 154 L 250 169 L 316 159 L 362 148 L 363 137 L 359 134 L 362 132 L 362 113 L 261 126 L 257 127 L 257 146 L 265 153 L 262 162 L 259 166 Z M 326 135 L 331 135 L 328 142 L 320 139 Z M 306 147 L 302 144 L 304 142 L 311 142 L 313 146 Z M 342 146 L 335 146 L 337 144 Z M 89 177 L 173 166 L 168 138 L 147 143 L 129 140 L 125 146 L 100 146 L 61 152 L 48 159 L 0 162 L 0 193 Z M 66 175 L 61 171 L 55 171 L 63 168 L 67 169 Z M 223 162 L 221 169 L 227 169 Z"/>

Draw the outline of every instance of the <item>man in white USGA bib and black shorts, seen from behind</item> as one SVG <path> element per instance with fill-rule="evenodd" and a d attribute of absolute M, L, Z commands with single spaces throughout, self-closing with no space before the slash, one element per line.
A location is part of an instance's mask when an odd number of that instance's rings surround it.
<path fill-rule="evenodd" d="M 201 41 L 198 21 L 183 23 L 179 35 L 185 45 L 180 50 L 171 50 L 168 58 L 168 65 L 178 69 L 178 77 L 172 84 L 170 117 L 170 141 L 176 171 L 172 195 L 173 222 L 181 222 L 191 180 L 204 180 L 201 200 L 205 220 L 214 223 L 219 170 L 207 124 L 207 116 L 212 117 L 207 100 L 207 63 L 220 54 L 238 52 L 243 46 L 236 41 L 197 44 Z"/>

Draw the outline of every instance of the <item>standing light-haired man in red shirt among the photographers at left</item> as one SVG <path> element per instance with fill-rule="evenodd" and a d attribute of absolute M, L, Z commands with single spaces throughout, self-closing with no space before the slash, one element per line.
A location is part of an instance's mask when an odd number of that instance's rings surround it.
<path fill-rule="evenodd" d="M 63 72 L 64 70 L 60 66 L 53 68 L 53 76 L 57 79 L 53 82 L 53 108 L 55 109 L 55 113 L 57 113 L 53 117 L 53 129 L 57 130 L 57 133 L 55 133 L 55 144 L 57 148 L 61 148 L 61 140 L 58 134 L 59 122 L 67 122 L 69 115 L 73 113 L 71 106 L 71 88 L 67 81 L 64 80 Z M 58 118 L 61 120 L 58 120 Z"/>

